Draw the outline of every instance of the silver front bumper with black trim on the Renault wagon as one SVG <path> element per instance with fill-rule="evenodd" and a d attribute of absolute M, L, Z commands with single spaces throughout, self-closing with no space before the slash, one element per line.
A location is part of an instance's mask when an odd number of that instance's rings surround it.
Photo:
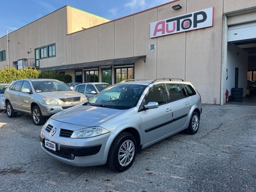
<path fill-rule="evenodd" d="M 73 125 L 76 126 L 76 125 Z M 74 166 L 97 166 L 106 164 L 109 147 L 106 145 L 111 133 L 95 136 L 93 138 L 65 138 L 60 136 L 57 129 L 54 136 L 42 128 L 40 145 L 42 149 L 54 159 Z M 56 144 L 56 151 L 45 147 L 45 140 Z"/>

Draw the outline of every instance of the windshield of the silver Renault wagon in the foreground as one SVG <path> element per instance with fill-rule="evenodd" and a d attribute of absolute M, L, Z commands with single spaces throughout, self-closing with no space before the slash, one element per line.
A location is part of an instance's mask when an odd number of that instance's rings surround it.
<path fill-rule="evenodd" d="M 133 108 L 145 88 L 141 84 L 114 84 L 93 97 L 88 105 L 114 109 Z"/>

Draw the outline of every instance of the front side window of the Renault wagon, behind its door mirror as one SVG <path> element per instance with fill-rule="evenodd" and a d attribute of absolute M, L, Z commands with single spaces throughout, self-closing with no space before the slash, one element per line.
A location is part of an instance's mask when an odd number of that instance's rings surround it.
<path fill-rule="evenodd" d="M 167 103 L 166 91 L 163 84 L 150 88 L 145 96 L 145 104 L 148 104 L 148 102 L 158 102 L 159 105 Z"/>

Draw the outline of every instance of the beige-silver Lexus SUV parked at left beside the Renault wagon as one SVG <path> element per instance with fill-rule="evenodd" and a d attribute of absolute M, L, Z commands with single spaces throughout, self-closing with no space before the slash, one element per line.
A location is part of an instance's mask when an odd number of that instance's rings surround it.
<path fill-rule="evenodd" d="M 45 118 L 84 102 L 87 99 L 83 94 L 56 79 L 20 79 L 4 92 L 8 117 L 17 112 L 28 113 L 35 125 L 43 125 Z"/>

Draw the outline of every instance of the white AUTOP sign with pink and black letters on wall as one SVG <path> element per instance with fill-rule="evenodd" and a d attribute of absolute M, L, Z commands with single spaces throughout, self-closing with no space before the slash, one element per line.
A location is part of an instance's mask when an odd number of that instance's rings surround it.
<path fill-rule="evenodd" d="M 150 38 L 213 26 L 213 7 L 150 23 Z"/>

